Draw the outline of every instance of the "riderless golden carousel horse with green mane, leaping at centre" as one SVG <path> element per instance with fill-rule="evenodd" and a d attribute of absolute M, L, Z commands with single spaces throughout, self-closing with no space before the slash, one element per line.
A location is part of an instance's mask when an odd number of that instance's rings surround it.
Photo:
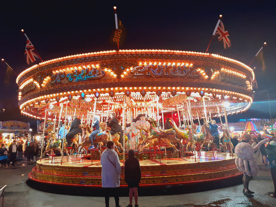
<path fill-rule="evenodd" d="M 175 137 L 174 128 L 162 130 L 157 128 L 157 121 L 155 121 L 153 118 L 146 117 L 146 121 L 149 121 L 150 124 L 149 136 L 144 140 L 143 143 L 147 143 L 148 141 L 153 139 L 168 139 L 169 142 L 179 143 L 180 146 L 183 146 L 181 141 Z"/>

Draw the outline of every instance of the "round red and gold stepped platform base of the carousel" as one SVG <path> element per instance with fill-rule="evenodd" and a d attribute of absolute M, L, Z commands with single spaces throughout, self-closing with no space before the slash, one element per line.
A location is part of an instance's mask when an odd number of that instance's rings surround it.
<path fill-rule="evenodd" d="M 121 165 L 123 165 L 123 161 Z M 240 176 L 235 156 L 229 153 L 201 152 L 182 158 L 140 160 L 140 187 L 185 185 L 202 182 L 217 182 Z M 101 187 L 100 160 L 81 158 L 81 155 L 45 158 L 38 160 L 29 173 L 33 181 L 65 186 Z M 120 187 L 127 187 L 122 169 Z"/>

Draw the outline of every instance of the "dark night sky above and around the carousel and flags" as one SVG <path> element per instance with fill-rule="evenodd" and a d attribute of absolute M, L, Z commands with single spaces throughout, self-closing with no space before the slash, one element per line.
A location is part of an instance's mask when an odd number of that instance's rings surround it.
<path fill-rule="evenodd" d="M 249 64 L 264 42 L 266 73 L 256 67 L 258 90 L 270 95 L 272 118 L 276 117 L 276 7 L 271 1 L 2 1 L 0 7 L 0 59 L 19 74 L 28 65 L 24 55 L 25 33 L 41 58 L 53 58 L 116 47 L 109 44 L 115 27 L 113 6 L 127 30 L 120 49 L 168 49 L 205 52 L 219 15 L 229 32 L 231 48 L 213 38 L 209 53 L 215 53 Z M 6 65 L 0 63 L 0 104 L 4 108 L 17 105 L 16 75 L 4 86 Z M 269 118 L 266 91 L 256 92 L 253 105 L 240 118 Z M 261 101 L 263 100 L 263 101 Z M 18 110 L 19 111 L 19 110 Z M 2 119 L 1 119 L 2 116 Z M 0 121 L 13 117 L 3 116 Z M 19 118 L 17 118 L 19 119 Z M 22 120 L 25 120 L 22 116 Z M 29 118 L 28 118 L 29 119 Z M 20 120 L 18 120 L 20 121 Z"/>

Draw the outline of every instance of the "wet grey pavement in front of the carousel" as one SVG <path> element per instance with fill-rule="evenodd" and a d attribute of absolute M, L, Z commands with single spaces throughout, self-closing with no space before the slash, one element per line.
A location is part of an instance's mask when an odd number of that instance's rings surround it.
<path fill-rule="evenodd" d="M 4 206 L 105 206 L 102 189 L 52 186 L 28 180 L 28 173 L 34 167 L 31 164 L 0 168 L 0 186 L 7 184 Z M 141 207 L 276 207 L 276 199 L 269 196 L 273 183 L 267 167 L 261 167 L 249 187 L 255 191 L 252 198 L 242 194 L 241 178 L 163 189 L 140 188 L 138 203 Z M 120 205 L 124 207 L 127 203 L 127 189 L 120 189 Z M 115 206 L 113 198 L 110 206 Z"/>

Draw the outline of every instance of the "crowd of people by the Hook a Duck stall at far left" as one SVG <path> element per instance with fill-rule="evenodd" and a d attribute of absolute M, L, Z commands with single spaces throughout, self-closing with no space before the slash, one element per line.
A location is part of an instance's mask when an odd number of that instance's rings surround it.
<path fill-rule="evenodd" d="M 10 163 L 14 166 L 16 162 L 23 162 L 23 155 L 27 157 L 27 162 L 36 162 L 39 151 L 39 143 L 37 142 L 26 142 L 24 148 L 21 140 L 18 142 L 13 140 L 8 148 L 2 143 L 0 148 L 1 167 L 8 167 Z"/>

